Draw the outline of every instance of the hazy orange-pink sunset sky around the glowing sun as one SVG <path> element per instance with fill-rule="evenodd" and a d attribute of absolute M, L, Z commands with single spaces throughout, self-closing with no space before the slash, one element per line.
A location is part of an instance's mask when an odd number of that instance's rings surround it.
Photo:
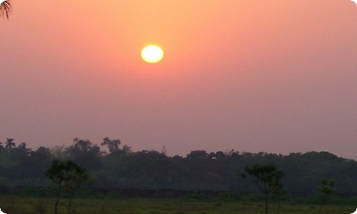
<path fill-rule="evenodd" d="M 350 0 L 12 1 L 0 141 L 357 159 Z M 157 44 L 162 61 L 141 59 Z"/>

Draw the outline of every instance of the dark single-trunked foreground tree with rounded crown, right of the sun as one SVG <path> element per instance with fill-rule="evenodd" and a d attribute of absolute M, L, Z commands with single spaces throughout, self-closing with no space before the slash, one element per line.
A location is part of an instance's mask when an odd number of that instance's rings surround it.
<path fill-rule="evenodd" d="M 266 214 L 268 213 L 268 195 L 269 193 L 277 193 L 283 189 L 280 183 L 281 178 L 285 175 L 283 171 L 277 170 L 277 166 L 273 163 L 255 164 L 251 168 L 245 168 L 246 173 L 258 186 L 258 189 L 266 196 Z M 246 174 L 241 174 L 242 178 L 246 178 Z"/>

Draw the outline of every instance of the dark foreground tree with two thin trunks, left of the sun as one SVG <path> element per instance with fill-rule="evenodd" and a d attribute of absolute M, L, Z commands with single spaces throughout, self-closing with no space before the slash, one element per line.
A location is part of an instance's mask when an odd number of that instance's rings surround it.
<path fill-rule="evenodd" d="M 61 197 L 61 190 L 66 188 L 71 191 L 73 195 L 79 186 L 84 185 L 89 180 L 89 175 L 86 174 L 86 169 L 81 168 L 74 161 L 59 161 L 54 160 L 51 163 L 51 167 L 46 171 L 45 175 L 51 180 L 52 183 L 58 185 L 57 200 L 54 206 L 54 213 L 57 214 L 57 205 L 59 203 L 59 198 Z M 71 200 L 69 202 L 69 209 L 71 206 Z"/>

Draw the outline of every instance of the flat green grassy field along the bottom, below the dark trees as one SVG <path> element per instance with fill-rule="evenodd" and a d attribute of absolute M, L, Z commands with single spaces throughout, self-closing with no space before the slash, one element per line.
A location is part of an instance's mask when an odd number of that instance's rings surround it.
<path fill-rule="evenodd" d="M 0 198 L 0 208 L 6 214 L 18 213 L 54 213 L 54 198 Z M 59 213 L 67 213 L 69 200 L 62 199 L 59 203 Z M 281 204 L 279 213 L 318 213 L 319 205 L 297 205 L 295 203 Z M 357 208 L 353 206 L 326 205 L 321 213 L 350 214 Z M 269 205 L 269 213 L 277 213 L 278 205 Z M 265 213 L 263 203 L 250 202 L 198 202 L 184 199 L 133 198 L 121 200 L 107 199 L 75 199 L 71 213 L 125 213 L 125 214 L 198 214 L 198 213 Z"/>

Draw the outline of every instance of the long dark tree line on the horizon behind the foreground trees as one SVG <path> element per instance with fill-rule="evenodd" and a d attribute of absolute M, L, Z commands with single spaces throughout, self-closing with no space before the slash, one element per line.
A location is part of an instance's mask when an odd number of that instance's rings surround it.
<path fill-rule="evenodd" d="M 0 143 L 0 186 L 50 185 L 45 172 L 52 161 L 71 160 L 86 168 L 98 188 L 148 190 L 229 190 L 256 192 L 256 185 L 241 173 L 255 164 L 273 163 L 285 176 L 288 193 L 316 193 L 322 178 L 333 178 L 336 193 L 357 193 L 357 162 L 328 152 L 248 153 L 191 151 L 186 156 L 166 156 L 158 151 L 131 151 L 119 139 L 101 143 L 75 138 L 71 146 L 28 148 L 6 138 Z"/>

